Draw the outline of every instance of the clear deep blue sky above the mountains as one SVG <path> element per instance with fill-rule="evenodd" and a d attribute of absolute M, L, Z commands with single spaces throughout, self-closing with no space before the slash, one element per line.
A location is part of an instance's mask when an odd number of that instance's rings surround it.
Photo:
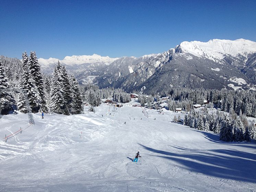
<path fill-rule="evenodd" d="M 256 1 L 0 1 L 8 57 L 139 57 L 214 38 L 256 41 Z"/>

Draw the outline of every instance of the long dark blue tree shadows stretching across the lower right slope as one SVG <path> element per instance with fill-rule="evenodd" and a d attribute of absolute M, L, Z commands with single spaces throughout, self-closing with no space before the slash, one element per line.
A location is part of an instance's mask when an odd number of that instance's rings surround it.
<path fill-rule="evenodd" d="M 141 144 L 139 144 L 141 145 Z M 176 161 L 190 171 L 223 179 L 256 183 L 256 153 L 229 149 L 195 150 L 174 147 L 178 152 L 167 152 L 141 145 L 159 158 Z"/>

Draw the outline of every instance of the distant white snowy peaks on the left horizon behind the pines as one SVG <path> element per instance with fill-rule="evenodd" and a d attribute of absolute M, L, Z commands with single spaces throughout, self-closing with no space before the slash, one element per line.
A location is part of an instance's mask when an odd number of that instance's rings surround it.
<path fill-rule="evenodd" d="M 93 55 L 80 55 L 80 56 L 66 56 L 63 60 L 59 60 L 56 58 L 49 58 L 49 59 L 43 59 L 43 58 L 39 58 L 38 62 L 41 65 L 49 65 L 49 64 L 55 64 L 58 62 L 58 60 L 61 63 L 65 63 L 66 65 L 80 65 L 80 64 L 85 64 L 85 63 L 106 63 L 106 64 L 111 64 L 113 61 L 117 60 L 119 58 L 110 58 L 108 56 L 100 56 L 97 54 L 93 54 Z"/>

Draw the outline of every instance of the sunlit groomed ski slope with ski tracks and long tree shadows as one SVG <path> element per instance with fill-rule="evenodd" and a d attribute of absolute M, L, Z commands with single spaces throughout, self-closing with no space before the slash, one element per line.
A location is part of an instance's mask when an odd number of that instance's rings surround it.
<path fill-rule="evenodd" d="M 225 143 L 171 123 L 178 113 L 147 109 L 146 117 L 131 103 L 102 104 L 95 114 L 35 114 L 25 130 L 26 114 L 3 116 L 1 139 L 23 131 L 0 142 L 0 191 L 256 191 L 255 141 Z"/>

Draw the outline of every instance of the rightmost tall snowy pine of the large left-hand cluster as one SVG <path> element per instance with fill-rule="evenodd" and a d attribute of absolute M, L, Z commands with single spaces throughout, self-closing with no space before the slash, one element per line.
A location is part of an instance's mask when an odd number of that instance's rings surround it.
<path fill-rule="evenodd" d="M 75 79 L 74 75 L 71 74 L 70 76 L 70 82 L 72 87 L 72 101 L 71 101 L 71 113 L 72 114 L 79 114 L 82 111 L 82 98 L 80 93 L 80 88 L 78 85 L 77 80 Z M 94 97 L 96 98 L 96 97 Z M 96 103 L 97 106 L 97 103 Z"/>

